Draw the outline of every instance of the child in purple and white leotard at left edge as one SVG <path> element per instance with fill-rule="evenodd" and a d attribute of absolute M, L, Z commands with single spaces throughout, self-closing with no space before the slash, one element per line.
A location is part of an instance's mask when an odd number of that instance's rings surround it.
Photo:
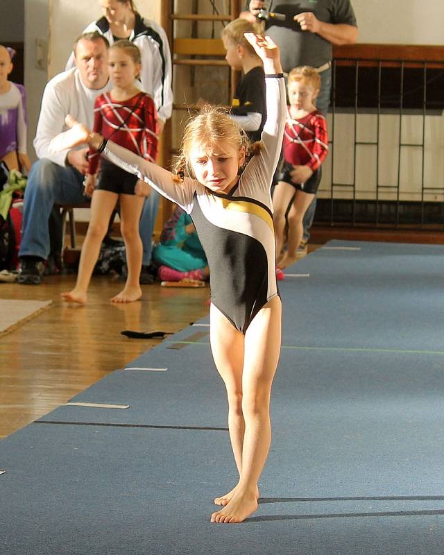
<path fill-rule="evenodd" d="M 0 45 L 0 161 L 10 170 L 29 171 L 25 87 L 8 79 L 14 56 L 14 49 Z"/>

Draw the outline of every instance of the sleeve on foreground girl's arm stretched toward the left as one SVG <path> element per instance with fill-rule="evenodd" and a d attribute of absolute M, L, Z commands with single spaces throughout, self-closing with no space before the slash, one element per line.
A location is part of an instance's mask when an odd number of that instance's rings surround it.
<path fill-rule="evenodd" d="M 153 162 L 148 162 L 112 141 L 108 141 L 102 154 L 113 164 L 144 180 L 162 196 L 178 204 L 187 214 L 191 212 L 194 191 L 198 185 L 196 180 L 185 178 L 178 182 L 174 179 L 175 176 L 171 171 L 157 166 Z"/>

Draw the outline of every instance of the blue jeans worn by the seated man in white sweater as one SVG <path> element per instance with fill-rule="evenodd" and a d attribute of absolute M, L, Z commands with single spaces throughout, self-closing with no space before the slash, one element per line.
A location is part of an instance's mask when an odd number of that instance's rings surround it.
<path fill-rule="evenodd" d="M 59 166 L 46 158 L 33 164 L 25 189 L 19 256 L 48 258 L 51 249 L 48 222 L 53 205 L 84 203 L 88 198 L 83 190 L 83 176 L 76 169 Z M 151 238 L 158 205 L 159 194 L 152 191 L 145 200 L 139 225 L 144 265 L 151 260 Z"/>

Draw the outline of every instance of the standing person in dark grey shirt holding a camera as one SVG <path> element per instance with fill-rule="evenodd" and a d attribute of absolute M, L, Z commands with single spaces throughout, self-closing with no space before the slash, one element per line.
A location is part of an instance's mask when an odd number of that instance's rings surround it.
<path fill-rule="evenodd" d="M 250 0 L 241 17 L 263 20 L 266 34 L 278 44 L 282 67 L 288 74 L 299 66 L 311 66 L 321 78 L 316 108 L 327 117 L 332 87 L 333 44 L 354 44 L 358 28 L 350 0 Z M 304 217 L 302 246 L 310 237 L 316 197 Z"/>

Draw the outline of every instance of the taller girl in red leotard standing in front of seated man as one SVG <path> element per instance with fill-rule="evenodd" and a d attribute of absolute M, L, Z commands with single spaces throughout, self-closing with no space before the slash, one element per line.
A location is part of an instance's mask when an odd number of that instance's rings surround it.
<path fill-rule="evenodd" d="M 135 78 L 141 68 L 140 52 L 133 42 L 121 40 L 110 48 L 108 66 L 113 88 L 101 94 L 94 105 L 94 131 L 125 146 L 145 160 L 153 162 L 157 151 L 156 112 L 153 99 L 140 92 Z M 112 302 L 132 302 L 142 296 L 139 274 L 142 268 L 142 240 L 139 219 L 144 198 L 135 195 L 137 177 L 108 160 L 89 151 L 89 168 L 85 178 L 85 192 L 92 195 L 91 221 L 80 254 L 76 287 L 62 298 L 85 304 L 87 289 L 100 247 L 108 230 L 110 216 L 119 200 L 121 234 L 125 241 L 128 277 L 126 284 Z M 148 189 L 148 187 L 147 187 Z M 94 192 L 93 192 L 94 191 Z"/>

